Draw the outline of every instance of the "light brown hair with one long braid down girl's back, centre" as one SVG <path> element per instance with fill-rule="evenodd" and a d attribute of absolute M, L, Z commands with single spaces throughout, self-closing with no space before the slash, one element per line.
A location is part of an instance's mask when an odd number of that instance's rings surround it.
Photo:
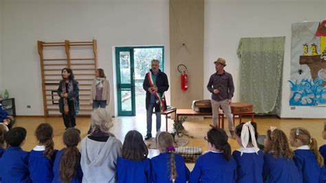
<path fill-rule="evenodd" d="M 175 163 L 175 155 L 174 155 L 174 140 L 170 133 L 166 131 L 162 131 L 157 133 L 156 135 L 156 142 L 158 145 L 158 149 L 161 153 L 170 152 L 170 165 L 171 165 L 171 180 L 172 182 L 175 181 L 175 178 L 177 177 L 177 166 Z"/>

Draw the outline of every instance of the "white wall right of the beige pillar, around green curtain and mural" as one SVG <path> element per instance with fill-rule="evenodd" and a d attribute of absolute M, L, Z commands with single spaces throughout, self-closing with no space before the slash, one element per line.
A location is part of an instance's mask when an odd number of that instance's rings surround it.
<path fill-rule="evenodd" d="M 213 61 L 226 58 L 226 71 L 233 75 L 235 97 L 239 98 L 239 58 L 237 47 L 241 37 L 286 36 L 283 67 L 281 118 L 326 118 L 325 107 L 289 106 L 291 24 L 301 21 L 323 21 L 326 2 L 323 0 L 206 0 L 204 38 L 204 98 L 210 98 L 206 84 L 215 72 Z"/>

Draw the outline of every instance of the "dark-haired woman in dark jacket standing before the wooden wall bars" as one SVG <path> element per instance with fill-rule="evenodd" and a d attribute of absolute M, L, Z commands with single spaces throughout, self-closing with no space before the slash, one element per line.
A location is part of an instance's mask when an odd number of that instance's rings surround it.
<path fill-rule="evenodd" d="M 63 68 L 61 74 L 63 80 L 59 83 L 57 93 L 60 97 L 59 109 L 67 129 L 76 126 L 76 114 L 79 111 L 79 88 L 78 82 L 74 80 L 72 69 Z"/>

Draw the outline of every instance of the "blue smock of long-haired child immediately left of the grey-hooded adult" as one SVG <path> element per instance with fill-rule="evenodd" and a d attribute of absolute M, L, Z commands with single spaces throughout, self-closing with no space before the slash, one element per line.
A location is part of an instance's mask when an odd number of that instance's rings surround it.
<path fill-rule="evenodd" d="M 54 166 L 53 166 L 53 174 L 54 178 L 52 180 L 52 183 L 59 183 L 60 181 L 60 174 L 59 174 L 59 168 L 60 168 L 60 160 L 63 155 L 63 152 L 65 152 L 65 148 L 61 149 L 56 153 L 56 160 L 54 160 Z M 79 153 L 80 155 L 80 153 Z M 83 171 L 80 167 L 80 163 L 75 168 L 75 176 L 72 178 L 70 183 L 79 183 L 83 180 Z"/>

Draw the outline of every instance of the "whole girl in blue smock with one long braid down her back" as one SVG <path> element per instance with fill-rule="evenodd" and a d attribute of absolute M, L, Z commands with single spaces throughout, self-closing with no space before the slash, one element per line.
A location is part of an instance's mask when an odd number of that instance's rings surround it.
<path fill-rule="evenodd" d="M 155 140 L 160 155 L 151 159 L 153 182 L 188 181 L 189 170 L 184 164 L 184 158 L 174 152 L 174 140 L 171 134 L 161 131 L 157 133 Z"/>

